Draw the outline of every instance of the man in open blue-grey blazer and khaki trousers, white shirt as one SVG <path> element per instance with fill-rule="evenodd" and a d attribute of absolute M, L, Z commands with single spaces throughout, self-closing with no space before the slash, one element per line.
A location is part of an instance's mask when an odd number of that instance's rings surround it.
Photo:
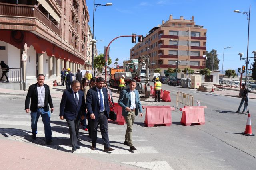
<path fill-rule="evenodd" d="M 122 107 L 122 116 L 127 125 L 124 145 L 130 146 L 130 150 L 137 150 L 132 143 L 132 126 L 135 115 L 138 115 L 139 110 L 140 117 L 143 116 L 139 92 L 135 89 L 136 84 L 136 80 L 131 80 L 129 88 L 122 90 L 118 99 L 118 104 Z"/>

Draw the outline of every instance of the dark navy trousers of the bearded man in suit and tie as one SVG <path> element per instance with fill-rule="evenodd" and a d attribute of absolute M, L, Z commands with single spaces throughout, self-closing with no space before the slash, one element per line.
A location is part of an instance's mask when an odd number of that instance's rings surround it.
<path fill-rule="evenodd" d="M 96 147 L 97 144 L 97 129 L 100 125 L 100 132 L 102 136 L 102 140 L 104 143 L 104 148 L 109 147 L 109 139 L 108 139 L 108 118 L 106 116 L 106 111 L 104 113 L 100 113 L 97 119 L 90 119 L 90 131 L 92 138 L 92 146 Z"/>

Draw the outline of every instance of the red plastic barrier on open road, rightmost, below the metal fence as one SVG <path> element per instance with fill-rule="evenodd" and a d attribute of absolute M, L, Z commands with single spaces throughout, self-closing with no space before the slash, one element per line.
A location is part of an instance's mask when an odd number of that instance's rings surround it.
<path fill-rule="evenodd" d="M 204 125 L 204 108 L 207 106 L 184 106 L 184 108 L 180 108 L 182 111 L 180 123 L 185 126 L 190 126 L 192 123 Z"/>

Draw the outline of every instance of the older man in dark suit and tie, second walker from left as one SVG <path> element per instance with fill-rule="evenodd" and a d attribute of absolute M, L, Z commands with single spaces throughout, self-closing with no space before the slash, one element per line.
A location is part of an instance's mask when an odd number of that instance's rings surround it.
<path fill-rule="evenodd" d="M 72 151 L 80 149 L 77 144 L 80 117 L 83 120 L 85 115 L 84 92 L 80 90 L 80 82 L 74 80 L 72 89 L 63 92 L 60 102 L 60 119 L 66 119 L 69 135 L 72 143 Z"/>

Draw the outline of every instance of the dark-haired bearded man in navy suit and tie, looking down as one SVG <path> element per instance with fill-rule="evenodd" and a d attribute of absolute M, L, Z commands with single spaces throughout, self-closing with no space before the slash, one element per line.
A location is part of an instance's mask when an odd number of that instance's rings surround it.
<path fill-rule="evenodd" d="M 108 91 L 103 87 L 104 78 L 96 79 L 96 87 L 88 90 L 86 95 L 87 114 L 90 115 L 90 130 L 92 138 L 91 149 L 95 150 L 97 143 L 97 129 L 100 124 L 100 132 L 104 143 L 104 151 L 110 152 L 114 149 L 109 146 L 108 140 L 108 118 L 109 102 Z"/>

